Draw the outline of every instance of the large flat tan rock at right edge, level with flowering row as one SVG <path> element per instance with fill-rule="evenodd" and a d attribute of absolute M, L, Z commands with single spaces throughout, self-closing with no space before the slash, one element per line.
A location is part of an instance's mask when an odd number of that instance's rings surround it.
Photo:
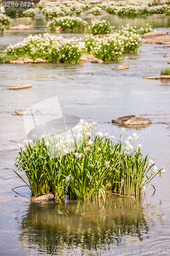
<path fill-rule="evenodd" d="M 153 31 L 141 35 L 141 42 L 147 44 L 170 44 L 170 34 L 164 31 Z"/>

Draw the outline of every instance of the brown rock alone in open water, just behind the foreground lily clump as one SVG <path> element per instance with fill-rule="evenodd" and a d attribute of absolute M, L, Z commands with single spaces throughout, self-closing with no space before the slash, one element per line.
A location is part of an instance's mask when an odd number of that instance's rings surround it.
<path fill-rule="evenodd" d="M 112 123 L 123 124 L 123 125 L 139 125 L 139 124 L 149 124 L 152 121 L 148 118 L 140 117 L 137 115 L 122 116 L 117 119 L 113 119 Z"/>

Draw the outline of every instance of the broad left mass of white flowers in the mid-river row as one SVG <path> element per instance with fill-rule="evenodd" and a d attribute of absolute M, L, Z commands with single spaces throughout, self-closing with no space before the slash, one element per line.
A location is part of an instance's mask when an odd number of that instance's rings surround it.
<path fill-rule="evenodd" d="M 5 51 L 7 55 L 23 57 L 29 55 L 35 60 L 43 58 L 48 61 L 62 61 L 76 63 L 85 52 L 85 42 L 75 37 L 68 39 L 48 33 L 29 35 L 16 45 L 9 45 Z"/>

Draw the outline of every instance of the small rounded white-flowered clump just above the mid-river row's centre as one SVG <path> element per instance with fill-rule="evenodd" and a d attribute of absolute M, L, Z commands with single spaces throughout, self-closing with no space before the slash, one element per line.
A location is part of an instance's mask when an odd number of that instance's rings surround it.
<path fill-rule="evenodd" d="M 93 35 L 105 35 L 112 32 L 113 27 L 105 19 L 103 20 L 92 20 L 90 26 L 90 33 Z"/>

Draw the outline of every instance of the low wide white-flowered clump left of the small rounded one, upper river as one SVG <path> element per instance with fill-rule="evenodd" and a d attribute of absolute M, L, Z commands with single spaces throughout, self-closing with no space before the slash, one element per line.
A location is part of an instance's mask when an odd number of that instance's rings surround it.
<path fill-rule="evenodd" d="M 64 16 L 53 18 L 52 21 L 47 24 L 47 26 L 51 29 L 55 29 L 60 26 L 62 29 L 83 30 L 87 28 L 88 23 L 82 18 L 75 16 Z"/>

